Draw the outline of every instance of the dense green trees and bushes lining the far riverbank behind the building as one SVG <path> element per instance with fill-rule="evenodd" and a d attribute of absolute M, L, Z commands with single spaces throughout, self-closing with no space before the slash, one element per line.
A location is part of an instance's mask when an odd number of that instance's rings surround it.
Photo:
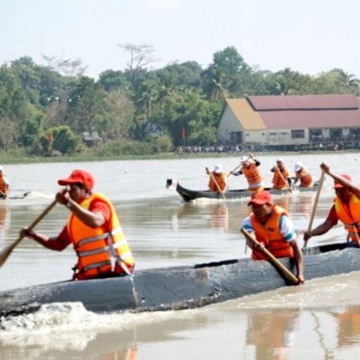
<path fill-rule="evenodd" d="M 129 51 L 124 71 L 84 76 L 77 61 L 23 57 L 0 67 L 0 150 L 56 156 L 162 153 L 212 146 L 225 98 L 279 94 L 355 94 L 359 79 L 341 69 L 316 76 L 252 68 L 230 46 L 205 69 L 194 61 L 148 69 L 151 46 Z"/>

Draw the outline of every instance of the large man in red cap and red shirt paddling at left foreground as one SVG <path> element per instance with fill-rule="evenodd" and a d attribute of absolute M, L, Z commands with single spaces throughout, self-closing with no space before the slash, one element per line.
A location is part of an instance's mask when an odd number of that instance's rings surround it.
<path fill-rule="evenodd" d="M 94 178 L 75 169 L 59 185 L 58 203 L 70 210 L 68 224 L 56 237 L 22 229 L 20 236 L 32 238 L 51 250 L 64 250 L 72 243 L 77 252 L 74 279 L 107 278 L 134 273 L 134 258 L 122 232 L 113 204 L 101 193 L 92 193 Z"/>

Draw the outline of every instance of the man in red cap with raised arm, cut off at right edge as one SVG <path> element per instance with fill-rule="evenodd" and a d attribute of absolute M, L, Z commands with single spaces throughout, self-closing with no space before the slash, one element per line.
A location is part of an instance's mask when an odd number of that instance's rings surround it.
<path fill-rule="evenodd" d="M 348 232 L 349 247 L 360 248 L 360 187 L 352 184 L 348 174 L 334 174 L 324 163 L 320 167 L 334 179 L 336 197 L 326 220 L 314 230 L 305 231 L 304 241 L 327 233 L 340 220 Z"/>

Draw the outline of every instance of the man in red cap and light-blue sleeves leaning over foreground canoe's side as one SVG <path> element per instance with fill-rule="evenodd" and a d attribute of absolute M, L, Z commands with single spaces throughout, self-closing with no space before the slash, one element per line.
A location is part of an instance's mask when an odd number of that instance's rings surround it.
<path fill-rule="evenodd" d="M 299 283 L 304 283 L 303 258 L 297 244 L 297 234 L 288 212 L 280 206 L 271 204 L 271 195 L 267 191 L 259 191 L 252 195 L 248 206 L 252 213 L 244 219 L 243 228 L 255 233 L 262 244 L 274 257 L 293 257 L 297 269 Z M 252 249 L 252 259 L 265 260 L 264 253 L 248 241 Z"/>

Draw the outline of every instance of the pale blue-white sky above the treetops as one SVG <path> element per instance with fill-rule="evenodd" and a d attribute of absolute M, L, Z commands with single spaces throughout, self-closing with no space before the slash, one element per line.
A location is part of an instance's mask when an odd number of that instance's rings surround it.
<path fill-rule="evenodd" d="M 248 65 L 360 78 L 359 0 L 0 0 L 0 65 L 41 53 L 81 59 L 86 75 L 124 70 L 117 44 L 149 44 L 168 63 L 235 46 Z"/>

